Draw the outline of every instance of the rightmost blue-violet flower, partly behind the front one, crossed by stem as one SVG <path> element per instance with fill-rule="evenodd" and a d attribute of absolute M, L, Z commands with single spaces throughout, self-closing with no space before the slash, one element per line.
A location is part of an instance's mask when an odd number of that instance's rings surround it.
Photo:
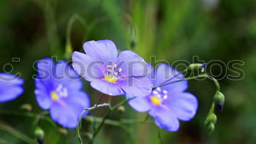
<path fill-rule="evenodd" d="M 183 79 L 184 75 L 167 64 L 161 64 L 151 77 L 154 87 L 157 87 L 162 83 Z M 148 96 L 130 100 L 129 105 L 138 112 L 148 112 L 162 129 L 175 132 L 179 128 L 178 120 L 189 121 L 197 111 L 197 99 L 193 94 L 185 92 L 187 87 L 187 80 L 157 87 Z M 127 99 L 131 97 L 127 95 Z"/>

